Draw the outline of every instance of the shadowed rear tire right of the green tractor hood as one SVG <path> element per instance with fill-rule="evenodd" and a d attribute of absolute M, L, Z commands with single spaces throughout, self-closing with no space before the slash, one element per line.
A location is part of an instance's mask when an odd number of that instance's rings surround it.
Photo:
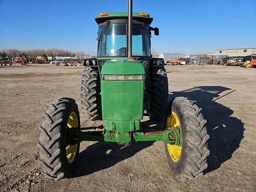
<path fill-rule="evenodd" d="M 168 106 L 168 78 L 163 66 L 152 67 L 147 81 L 148 113 L 152 120 L 163 120 Z"/>

